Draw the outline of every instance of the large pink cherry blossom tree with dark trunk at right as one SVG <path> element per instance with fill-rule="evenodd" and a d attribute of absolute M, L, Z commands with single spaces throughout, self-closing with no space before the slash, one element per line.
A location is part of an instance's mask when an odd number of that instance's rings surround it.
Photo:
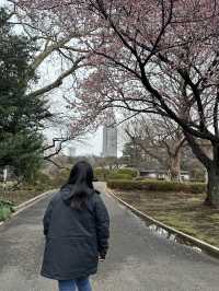
<path fill-rule="evenodd" d="M 90 51 L 95 53 L 90 59 L 95 69 L 90 73 L 90 98 L 84 100 L 83 94 L 83 104 L 87 102 L 100 109 L 100 104 L 107 98 L 108 106 L 117 102 L 117 106 L 128 110 L 155 112 L 174 120 L 208 172 L 206 203 L 219 206 L 218 1 L 19 2 L 32 10 L 65 15 L 67 28 L 71 26 L 76 11 L 81 21 L 85 20 L 84 25 L 92 23 L 96 33 L 82 40 Z M 116 101 L 110 88 L 107 94 L 105 89 L 101 90 L 102 94 L 97 88 L 99 93 L 94 92 L 97 80 L 102 89 L 101 82 L 108 68 L 111 78 L 115 78 L 119 86 L 125 80 L 125 88 L 132 86 L 132 93 L 129 91 L 123 100 Z M 173 86 L 181 86 L 177 96 Z M 140 98 L 136 94 L 138 90 L 143 92 Z M 180 106 L 175 106 L 178 101 Z M 210 142 L 210 155 L 200 146 L 205 140 Z"/>

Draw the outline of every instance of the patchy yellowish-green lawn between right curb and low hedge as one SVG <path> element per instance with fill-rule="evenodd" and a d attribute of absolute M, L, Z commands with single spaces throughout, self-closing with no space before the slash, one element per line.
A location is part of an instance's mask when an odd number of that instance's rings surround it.
<path fill-rule="evenodd" d="M 219 210 L 203 205 L 204 194 L 113 191 L 146 214 L 219 247 Z"/>

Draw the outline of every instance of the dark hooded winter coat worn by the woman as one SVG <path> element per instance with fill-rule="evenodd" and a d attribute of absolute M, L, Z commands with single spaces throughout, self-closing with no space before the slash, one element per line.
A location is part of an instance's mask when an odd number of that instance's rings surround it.
<path fill-rule="evenodd" d="M 83 210 L 69 205 L 71 188 L 55 194 L 44 216 L 46 246 L 42 276 L 71 280 L 97 271 L 99 255 L 108 248 L 110 218 L 97 191 Z"/>

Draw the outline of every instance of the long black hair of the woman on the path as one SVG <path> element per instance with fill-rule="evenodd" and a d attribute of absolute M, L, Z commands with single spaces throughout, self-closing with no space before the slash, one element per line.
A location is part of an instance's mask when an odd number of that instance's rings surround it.
<path fill-rule="evenodd" d="M 89 196 L 94 193 L 92 166 L 85 161 L 76 163 L 71 168 L 67 184 L 62 188 L 66 186 L 70 186 L 70 194 L 68 195 L 70 206 L 81 210 Z"/>

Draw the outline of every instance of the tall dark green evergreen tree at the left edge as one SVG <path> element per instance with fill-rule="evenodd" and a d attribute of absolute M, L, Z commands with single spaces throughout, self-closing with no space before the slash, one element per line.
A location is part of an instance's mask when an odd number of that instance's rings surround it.
<path fill-rule="evenodd" d="M 36 81 L 30 61 L 36 46 L 15 35 L 4 9 L 0 10 L 0 167 L 13 166 L 18 177 L 33 181 L 41 166 L 43 120 L 49 117 L 45 101 L 28 96 Z"/>

